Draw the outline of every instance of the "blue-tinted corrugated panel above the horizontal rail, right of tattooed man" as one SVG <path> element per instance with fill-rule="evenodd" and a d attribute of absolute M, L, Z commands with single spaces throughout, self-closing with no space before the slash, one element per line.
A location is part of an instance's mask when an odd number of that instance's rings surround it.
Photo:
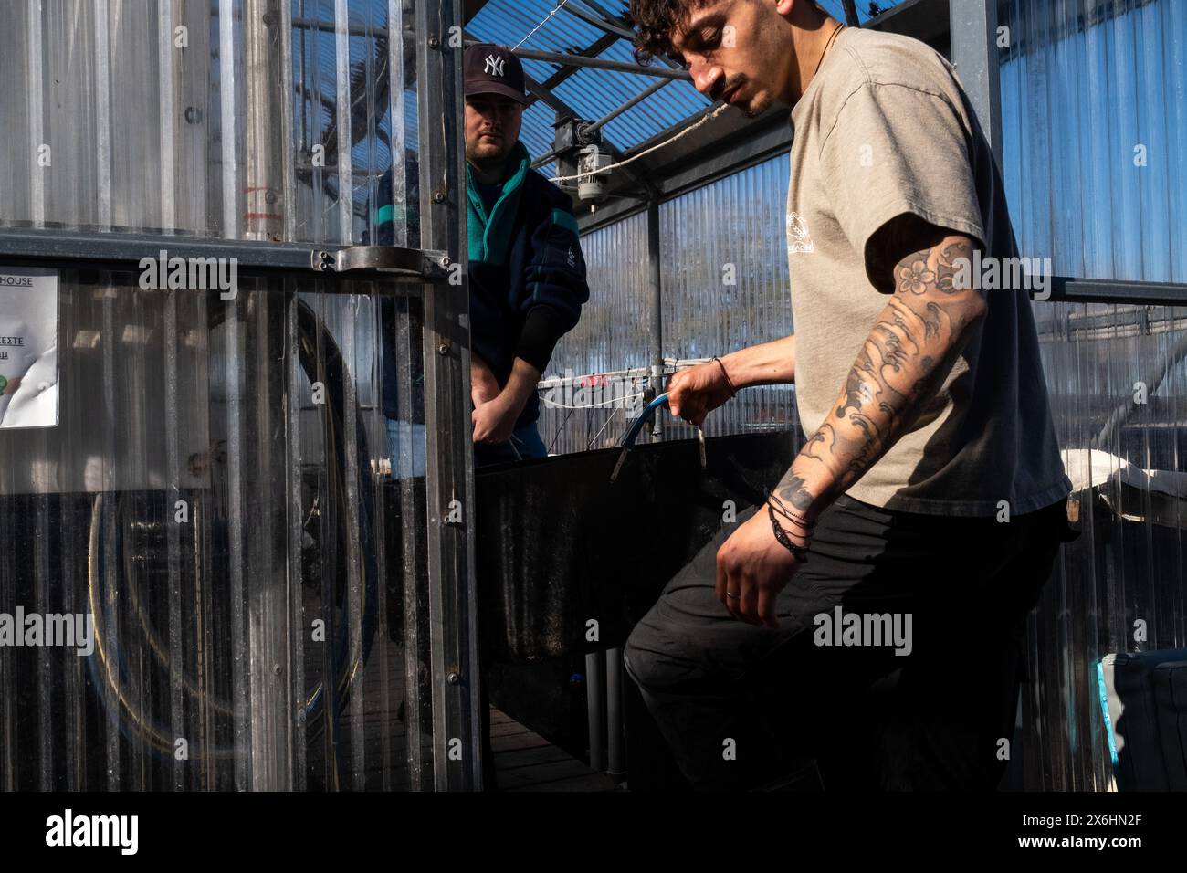
<path fill-rule="evenodd" d="M 1011 0 L 1004 171 L 1022 253 L 1187 281 L 1187 5 Z"/>

